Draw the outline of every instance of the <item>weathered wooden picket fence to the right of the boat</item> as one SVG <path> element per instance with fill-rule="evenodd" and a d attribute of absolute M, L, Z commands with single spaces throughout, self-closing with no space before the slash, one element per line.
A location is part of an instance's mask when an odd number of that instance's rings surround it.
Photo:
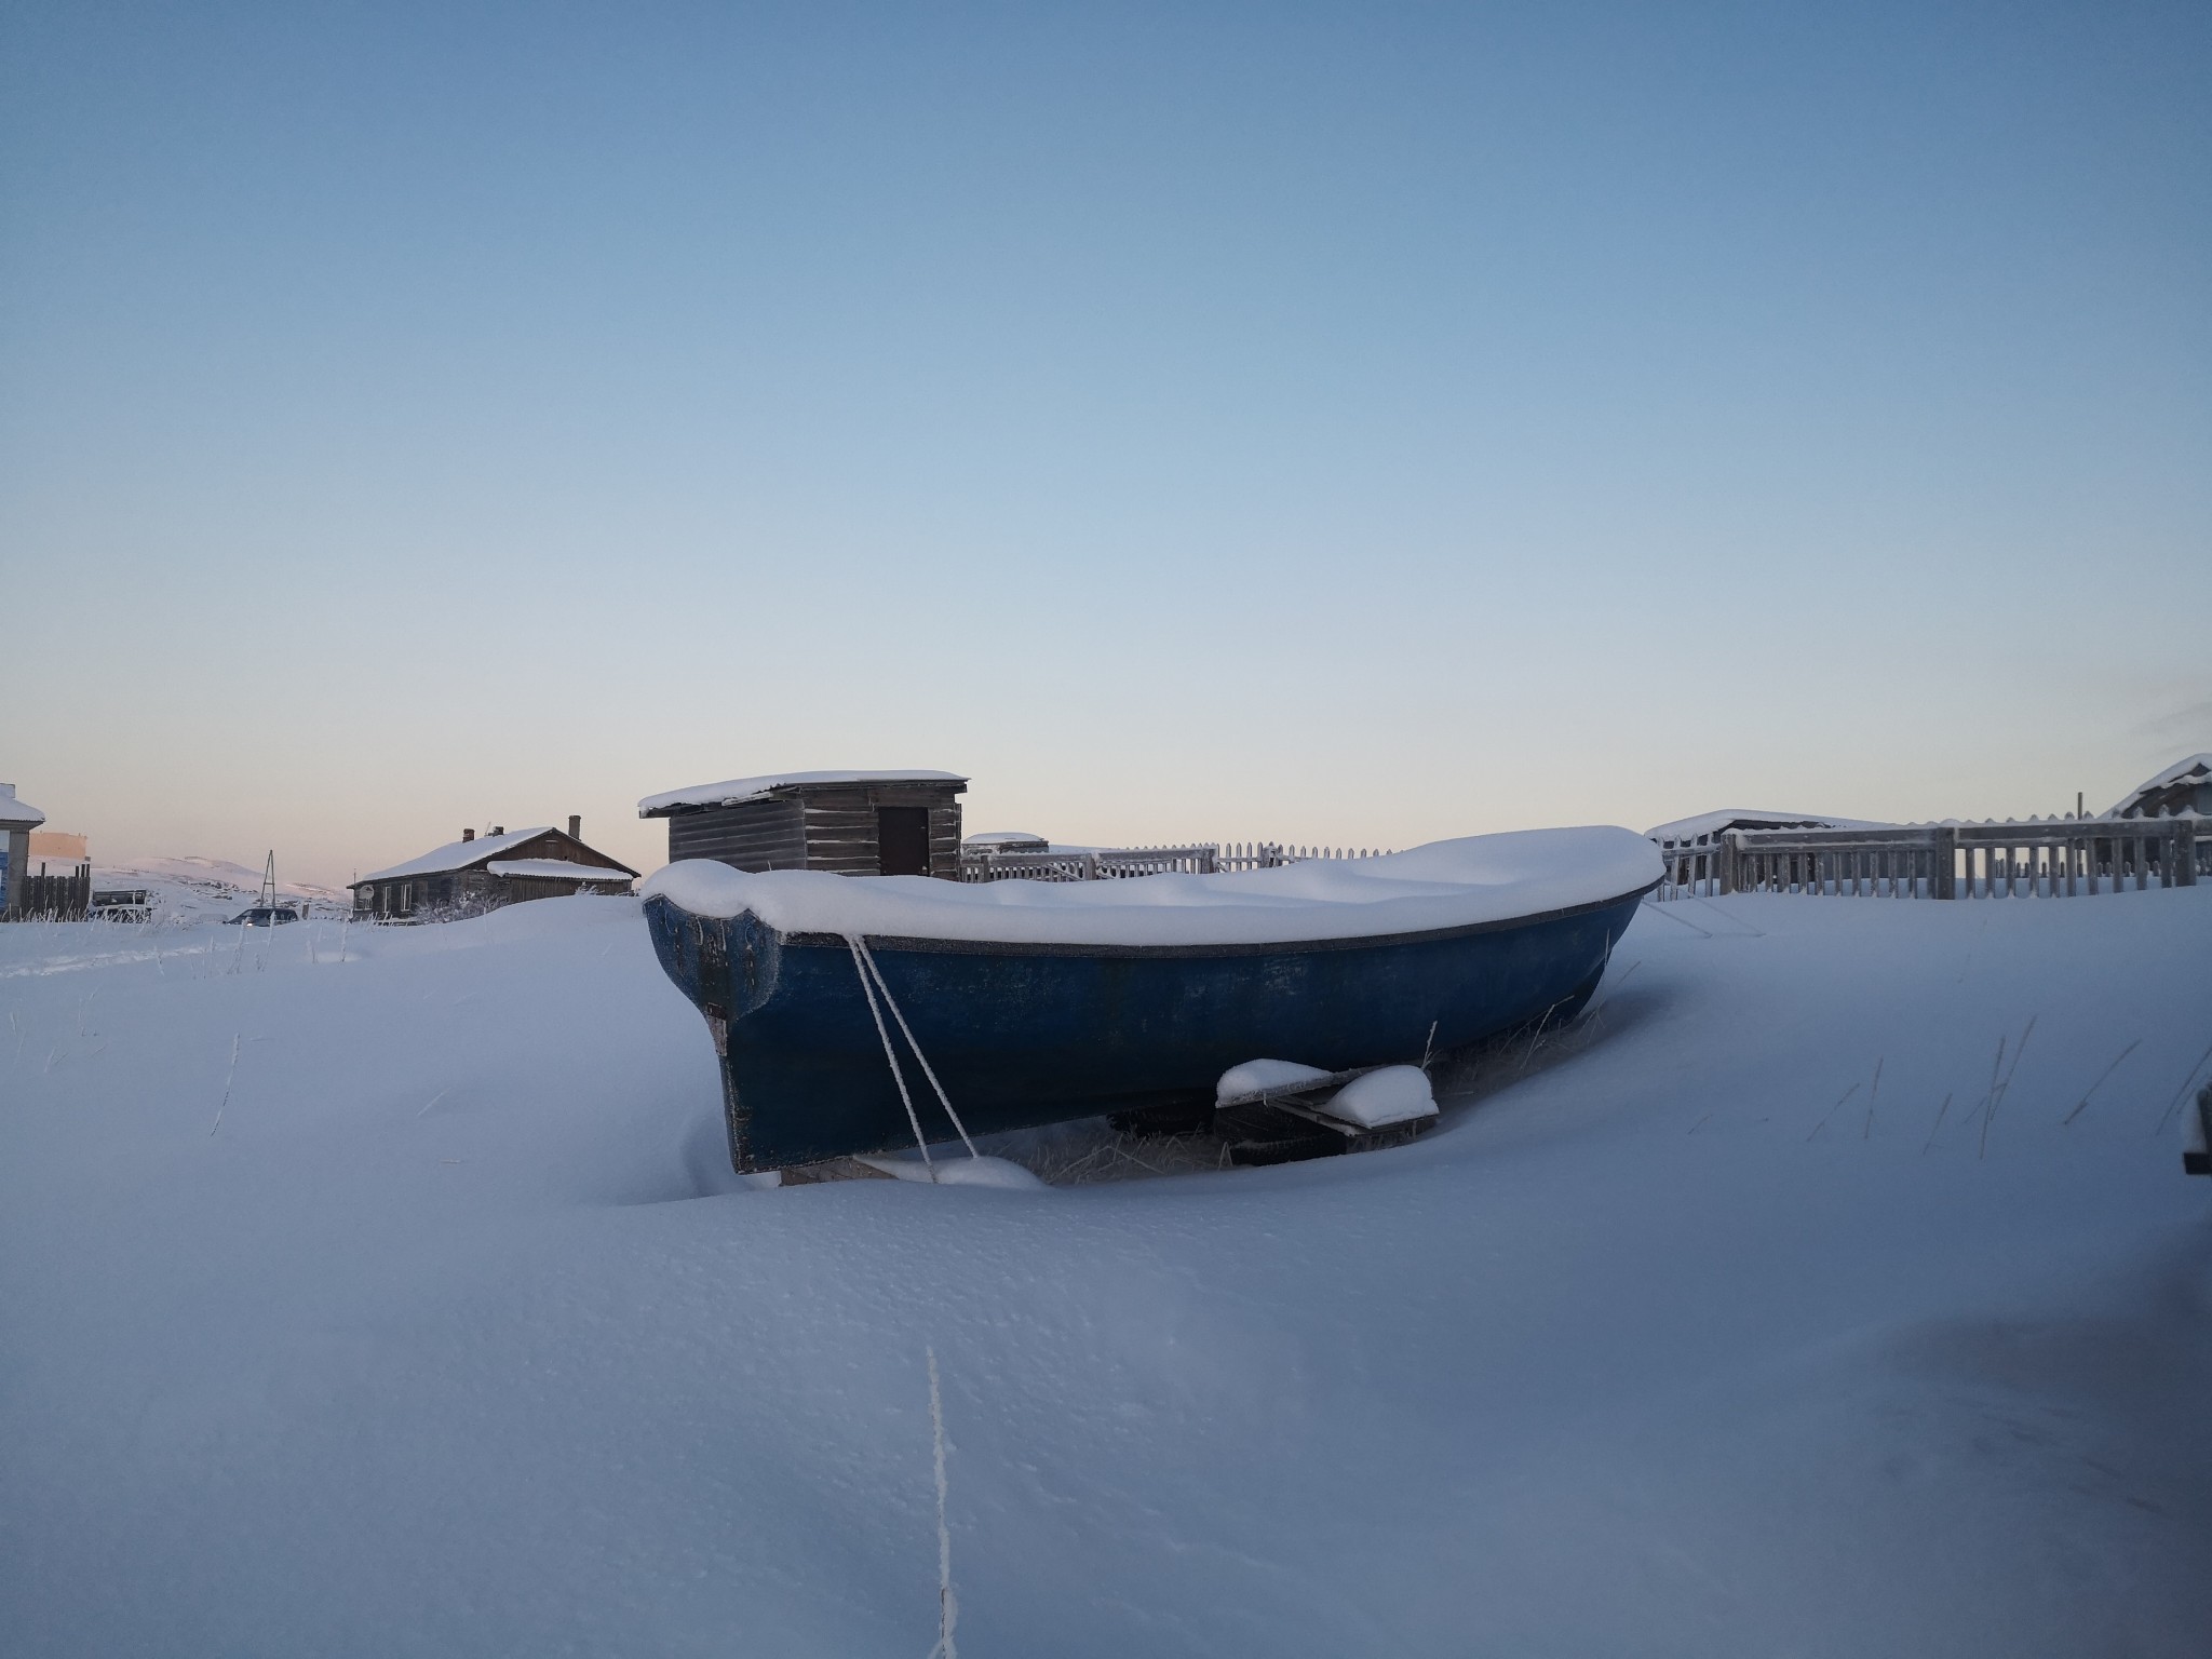
<path fill-rule="evenodd" d="M 1659 841 L 1652 898 L 1843 894 L 2073 898 L 2212 876 L 2212 818 L 2028 818 L 1887 830 L 1728 830 Z"/>

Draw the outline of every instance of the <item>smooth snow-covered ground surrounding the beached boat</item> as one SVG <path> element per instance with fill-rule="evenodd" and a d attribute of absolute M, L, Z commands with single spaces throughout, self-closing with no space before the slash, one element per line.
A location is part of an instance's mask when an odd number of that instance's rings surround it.
<path fill-rule="evenodd" d="M 741 1183 L 628 898 L 0 1009 L 11 1655 L 918 1659 L 931 1347 L 969 1659 L 2212 1630 L 2212 889 L 1646 907 L 1413 1146 L 1029 1192 Z"/>

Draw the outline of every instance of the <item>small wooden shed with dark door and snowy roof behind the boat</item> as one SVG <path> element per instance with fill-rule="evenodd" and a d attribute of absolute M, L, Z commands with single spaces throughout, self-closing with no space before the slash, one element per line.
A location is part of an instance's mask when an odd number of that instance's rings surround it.
<path fill-rule="evenodd" d="M 668 863 L 960 880 L 962 790 L 958 772 L 779 772 L 653 794 L 637 816 L 668 818 Z"/>

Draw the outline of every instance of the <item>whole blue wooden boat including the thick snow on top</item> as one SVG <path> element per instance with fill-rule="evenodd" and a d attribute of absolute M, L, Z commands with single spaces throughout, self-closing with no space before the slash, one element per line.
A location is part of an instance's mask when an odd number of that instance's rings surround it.
<path fill-rule="evenodd" d="M 1515 878 L 1515 854 L 1535 874 Z M 1093 894 L 684 863 L 646 885 L 646 920 L 708 1020 L 743 1172 L 911 1146 L 887 1048 L 922 1135 L 945 1141 L 958 1130 L 914 1048 L 984 1135 L 1203 1113 L 1221 1073 L 1254 1057 L 1336 1073 L 1566 1020 L 1657 878 L 1659 854 L 1626 830 L 1079 885 Z"/>

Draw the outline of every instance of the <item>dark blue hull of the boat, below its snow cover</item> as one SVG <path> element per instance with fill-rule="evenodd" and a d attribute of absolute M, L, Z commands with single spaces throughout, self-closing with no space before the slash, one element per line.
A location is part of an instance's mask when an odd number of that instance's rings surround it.
<path fill-rule="evenodd" d="M 1161 880 L 1161 878 L 1152 878 Z M 1641 887 L 1433 931 L 1261 945 L 1020 945 L 867 936 L 971 1135 L 1099 1113 L 1203 1108 L 1256 1055 L 1325 1071 L 1418 1062 L 1597 989 Z M 646 900 L 661 967 L 706 1013 L 730 1161 L 774 1170 L 914 1144 L 841 933 Z M 889 1024 L 889 1015 L 887 1015 Z M 1433 1026 L 1433 1037 L 1431 1037 Z M 953 1126 L 896 1026 L 922 1133 Z"/>

